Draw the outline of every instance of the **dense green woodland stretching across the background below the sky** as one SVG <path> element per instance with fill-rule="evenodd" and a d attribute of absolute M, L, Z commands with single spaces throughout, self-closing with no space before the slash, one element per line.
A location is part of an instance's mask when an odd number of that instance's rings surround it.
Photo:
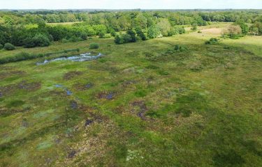
<path fill-rule="evenodd" d="M 99 35 L 115 37 L 117 44 L 184 33 L 184 26 L 235 22 L 242 35 L 262 35 L 260 10 L 228 11 L 2 11 L 0 48 L 44 47 L 52 41 L 74 42 Z M 75 24 L 49 24 L 67 23 Z M 238 28 L 231 28 L 238 33 Z M 126 32 L 126 33 L 125 33 Z M 235 32 L 233 32 L 235 33 Z M 14 47 L 15 46 L 15 47 Z"/>

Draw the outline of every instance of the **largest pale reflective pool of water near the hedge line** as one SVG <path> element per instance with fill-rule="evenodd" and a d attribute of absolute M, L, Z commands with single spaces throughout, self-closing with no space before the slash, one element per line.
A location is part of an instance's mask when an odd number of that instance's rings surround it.
<path fill-rule="evenodd" d="M 99 58 L 101 56 L 103 56 L 101 53 L 99 53 L 96 56 L 92 56 L 91 53 L 85 53 L 85 54 L 80 54 L 78 56 L 54 58 L 50 61 L 45 60 L 41 63 L 36 63 L 36 65 L 45 65 L 45 64 L 50 63 L 52 61 L 92 61 L 92 60 L 95 60 L 96 58 Z"/>

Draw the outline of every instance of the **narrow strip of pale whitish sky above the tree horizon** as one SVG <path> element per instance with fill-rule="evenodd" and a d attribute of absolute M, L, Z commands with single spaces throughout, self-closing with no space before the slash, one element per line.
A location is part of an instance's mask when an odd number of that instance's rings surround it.
<path fill-rule="evenodd" d="M 262 0 L 0 0 L 0 9 L 262 9 Z"/>

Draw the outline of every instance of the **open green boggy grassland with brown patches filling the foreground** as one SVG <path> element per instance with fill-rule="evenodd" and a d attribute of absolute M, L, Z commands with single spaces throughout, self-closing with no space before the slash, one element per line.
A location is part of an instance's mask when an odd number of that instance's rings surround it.
<path fill-rule="evenodd" d="M 262 166 L 262 38 L 204 45 L 224 26 L 0 51 L 104 54 L 0 65 L 0 166 Z"/>

